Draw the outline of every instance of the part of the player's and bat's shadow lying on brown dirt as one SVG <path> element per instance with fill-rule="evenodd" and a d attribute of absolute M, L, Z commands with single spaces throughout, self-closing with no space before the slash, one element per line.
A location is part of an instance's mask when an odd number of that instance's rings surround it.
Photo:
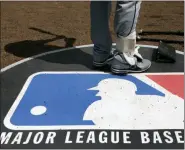
<path fill-rule="evenodd" d="M 41 29 L 37 28 L 29 28 L 35 31 L 39 31 L 41 33 L 51 34 L 50 32 L 43 31 Z M 55 41 L 55 40 L 61 40 L 63 39 L 65 41 L 64 47 L 54 46 L 54 45 L 47 45 L 49 42 Z M 61 48 L 68 48 L 73 47 L 76 39 L 75 38 L 68 38 L 64 35 L 55 35 L 54 38 L 46 39 L 46 40 L 25 40 L 25 41 L 19 41 L 15 43 L 10 43 L 5 46 L 5 51 L 8 53 L 11 53 L 17 57 L 31 57 L 33 55 L 41 54 L 48 51 L 53 51 L 56 49 Z"/>

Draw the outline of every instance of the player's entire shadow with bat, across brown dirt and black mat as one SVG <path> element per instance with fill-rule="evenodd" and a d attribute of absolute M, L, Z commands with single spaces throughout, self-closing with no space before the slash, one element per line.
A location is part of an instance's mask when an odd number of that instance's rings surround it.
<path fill-rule="evenodd" d="M 25 40 L 16 43 L 10 43 L 5 46 L 5 51 L 17 57 L 27 58 L 44 52 L 73 47 L 76 41 L 75 38 L 67 38 L 64 35 L 55 35 L 53 33 L 41 29 L 33 27 L 29 29 L 53 35 L 55 37 L 46 40 L 36 40 L 36 41 Z M 64 47 L 47 45 L 48 42 L 52 42 L 59 39 L 64 39 L 65 41 Z M 87 68 L 92 69 L 92 55 L 82 51 L 81 49 L 69 49 L 61 51 L 58 55 L 49 55 L 48 57 L 40 57 L 38 59 L 42 59 L 44 61 L 48 61 L 51 63 L 80 64 Z M 107 68 L 104 69 L 105 69 L 104 71 L 106 71 Z"/>

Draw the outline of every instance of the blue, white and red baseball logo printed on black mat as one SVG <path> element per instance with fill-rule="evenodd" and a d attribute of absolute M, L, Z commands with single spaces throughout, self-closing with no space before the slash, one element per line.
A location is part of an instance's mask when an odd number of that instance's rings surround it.
<path fill-rule="evenodd" d="M 184 129 L 184 74 L 39 72 L 4 120 L 11 130 Z"/>

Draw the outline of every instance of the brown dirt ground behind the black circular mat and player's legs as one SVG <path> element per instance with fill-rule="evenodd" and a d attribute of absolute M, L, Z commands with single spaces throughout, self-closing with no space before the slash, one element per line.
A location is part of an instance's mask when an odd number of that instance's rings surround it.
<path fill-rule="evenodd" d="M 113 30 L 115 2 L 110 18 Z M 63 47 L 92 44 L 89 2 L 1 2 L 1 68 L 18 60 Z M 143 2 L 137 31 L 184 32 L 184 2 Z M 184 36 L 148 35 L 180 40 Z M 158 45 L 158 42 L 138 43 Z M 184 43 L 172 44 L 183 51 Z"/>

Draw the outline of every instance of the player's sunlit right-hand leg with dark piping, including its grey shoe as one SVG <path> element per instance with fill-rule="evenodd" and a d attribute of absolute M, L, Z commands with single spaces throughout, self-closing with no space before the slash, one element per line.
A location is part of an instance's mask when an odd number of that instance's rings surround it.
<path fill-rule="evenodd" d="M 117 55 L 112 62 L 114 73 L 143 72 L 151 66 L 149 60 L 143 59 L 135 51 L 136 24 L 141 1 L 118 1 L 115 14 L 115 32 L 117 35 Z"/>

